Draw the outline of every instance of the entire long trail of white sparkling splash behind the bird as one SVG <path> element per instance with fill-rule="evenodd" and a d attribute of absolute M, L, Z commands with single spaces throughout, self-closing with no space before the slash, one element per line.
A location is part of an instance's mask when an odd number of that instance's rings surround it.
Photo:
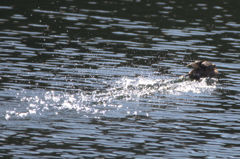
<path fill-rule="evenodd" d="M 216 89 L 217 81 L 208 79 L 201 81 L 180 80 L 178 78 L 153 78 L 135 77 L 121 78 L 105 90 L 79 91 L 67 93 L 59 91 L 36 91 L 29 93 L 24 90 L 17 95 L 20 99 L 19 107 L 7 110 L 5 119 L 11 117 L 25 118 L 31 115 L 44 115 L 53 113 L 58 115 L 65 111 L 75 111 L 89 116 L 97 114 L 114 113 L 118 111 L 136 115 L 141 110 L 131 111 L 129 103 L 135 103 L 142 99 L 151 99 L 159 95 L 201 95 L 210 94 Z M 34 95 L 32 95 L 34 94 Z M 134 104 L 131 104 L 134 107 Z M 134 109 L 133 109 L 134 110 Z"/>

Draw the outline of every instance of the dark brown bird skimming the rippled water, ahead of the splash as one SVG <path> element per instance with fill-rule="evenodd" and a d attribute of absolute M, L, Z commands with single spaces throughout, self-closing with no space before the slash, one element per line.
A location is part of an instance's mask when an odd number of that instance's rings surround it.
<path fill-rule="evenodd" d="M 199 80 L 204 77 L 217 77 L 219 74 L 216 65 L 209 61 L 195 61 L 187 66 L 193 68 L 193 70 L 188 73 L 190 79 L 193 80 Z"/>

